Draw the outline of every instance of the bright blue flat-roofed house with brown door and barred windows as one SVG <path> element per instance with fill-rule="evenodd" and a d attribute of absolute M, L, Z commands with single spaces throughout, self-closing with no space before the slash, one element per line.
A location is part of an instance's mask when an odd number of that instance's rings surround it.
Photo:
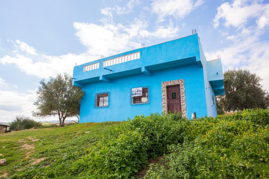
<path fill-rule="evenodd" d="M 224 94 L 221 59 L 206 60 L 197 34 L 75 66 L 73 78 L 85 90 L 80 122 L 162 111 L 215 117 Z"/>

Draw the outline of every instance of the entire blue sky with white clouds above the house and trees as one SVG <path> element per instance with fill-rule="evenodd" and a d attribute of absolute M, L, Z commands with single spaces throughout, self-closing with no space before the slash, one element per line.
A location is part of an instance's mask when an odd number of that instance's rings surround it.
<path fill-rule="evenodd" d="M 0 0 L 0 122 L 32 117 L 43 78 L 192 29 L 207 60 L 247 68 L 269 91 L 269 0 Z"/>

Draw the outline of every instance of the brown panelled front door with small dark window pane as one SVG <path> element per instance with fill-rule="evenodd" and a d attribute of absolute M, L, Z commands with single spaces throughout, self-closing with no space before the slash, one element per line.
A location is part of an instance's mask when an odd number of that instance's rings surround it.
<path fill-rule="evenodd" d="M 181 112 L 181 98 L 179 85 L 167 86 L 167 111 Z"/>

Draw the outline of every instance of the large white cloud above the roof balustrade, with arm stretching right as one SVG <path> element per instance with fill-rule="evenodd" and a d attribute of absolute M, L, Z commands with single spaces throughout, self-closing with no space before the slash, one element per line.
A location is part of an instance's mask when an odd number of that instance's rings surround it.
<path fill-rule="evenodd" d="M 157 30 L 148 32 L 145 29 L 147 23 L 139 19 L 135 19 L 134 23 L 126 26 L 122 24 L 97 25 L 76 22 L 74 27 L 77 30 L 76 35 L 79 40 L 88 48 L 87 53 L 98 56 L 110 56 L 140 48 L 139 40 L 141 38 L 174 37 L 179 31 L 179 27 L 173 27 L 173 23 L 170 22 L 167 27 L 160 26 Z"/>

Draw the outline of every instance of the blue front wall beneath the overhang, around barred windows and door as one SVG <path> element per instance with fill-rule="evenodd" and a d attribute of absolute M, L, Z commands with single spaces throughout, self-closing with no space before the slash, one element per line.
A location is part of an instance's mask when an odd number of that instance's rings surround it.
<path fill-rule="evenodd" d="M 151 76 L 139 74 L 111 80 L 111 83 L 95 82 L 85 85 L 85 96 L 81 101 L 80 122 L 104 122 L 126 120 L 135 115 L 150 115 L 162 112 L 161 82 L 184 79 L 187 116 L 207 114 L 203 68 L 197 64 L 154 71 Z M 149 86 L 150 104 L 131 105 L 130 90 Z M 109 92 L 109 107 L 94 108 L 95 93 Z"/>

